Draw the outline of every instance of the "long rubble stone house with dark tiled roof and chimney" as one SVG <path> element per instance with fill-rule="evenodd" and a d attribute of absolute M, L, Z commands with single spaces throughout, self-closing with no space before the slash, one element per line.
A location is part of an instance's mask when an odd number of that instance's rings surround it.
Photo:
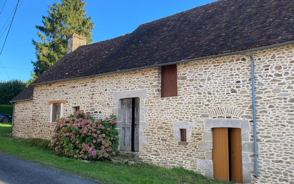
<path fill-rule="evenodd" d="M 293 184 L 293 30 L 291 0 L 219 0 L 102 42 L 73 34 L 11 100 L 12 134 L 50 139 L 76 110 L 114 113 L 119 150 L 146 163 Z"/>

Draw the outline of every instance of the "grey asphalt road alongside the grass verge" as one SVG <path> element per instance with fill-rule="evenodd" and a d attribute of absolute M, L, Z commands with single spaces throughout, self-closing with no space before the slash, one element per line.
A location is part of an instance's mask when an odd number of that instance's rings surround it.
<path fill-rule="evenodd" d="M 0 184 L 102 184 L 0 153 Z"/>

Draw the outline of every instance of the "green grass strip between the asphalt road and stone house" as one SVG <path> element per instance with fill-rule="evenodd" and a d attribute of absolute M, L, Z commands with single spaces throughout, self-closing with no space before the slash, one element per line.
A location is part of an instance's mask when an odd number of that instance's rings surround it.
<path fill-rule="evenodd" d="M 0 124 L 1 136 L 10 133 L 7 124 Z M 24 139 L 0 137 L 0 152 L 59 168 L 68 173 L 90 177 L 113 184 L 171 184 L 171 183 L 228 183 L 212 180 L 183 168 L 165 169 L 153 165 L 123 165 L 107 162 L 84 163 L 79 160 L 57 157 L 51 150 L 29 145 Z"/>

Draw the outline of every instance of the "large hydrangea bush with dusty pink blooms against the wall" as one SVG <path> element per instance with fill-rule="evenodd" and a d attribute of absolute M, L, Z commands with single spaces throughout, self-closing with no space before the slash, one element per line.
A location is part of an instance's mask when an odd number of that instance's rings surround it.
<path fill-rule="evenodd" d="M 94 120 L 82 110 L 59 120 L 49 146 L 57 155 L 82 160 L 109 158 L 117 152 L 115 115 Z"/>

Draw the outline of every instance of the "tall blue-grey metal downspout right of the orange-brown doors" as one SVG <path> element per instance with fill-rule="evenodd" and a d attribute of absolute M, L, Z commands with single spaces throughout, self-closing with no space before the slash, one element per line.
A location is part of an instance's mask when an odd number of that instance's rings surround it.
<path fill-rule="evenodd" d="M 253 146 L 254 146 L 254 176 L 257 177 L 257 143 L 256 143 L 256 113 L 255 113 L 255 81 L 254 81 L 254 58 L 251 52 L 248 53 L 251 59 L 251 86 L 252 86 L 252 107 L 253 107 Z"/>

